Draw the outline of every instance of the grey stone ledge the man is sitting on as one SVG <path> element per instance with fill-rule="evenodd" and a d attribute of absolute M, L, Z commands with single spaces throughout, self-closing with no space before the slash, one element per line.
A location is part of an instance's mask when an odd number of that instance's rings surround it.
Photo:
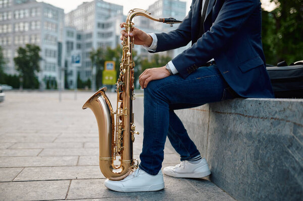
<path fill-rule="evenodd" d="M 211 180 L 237 200 L 303 197 L 303 99 L 234 99 L 176 113 Z"/>

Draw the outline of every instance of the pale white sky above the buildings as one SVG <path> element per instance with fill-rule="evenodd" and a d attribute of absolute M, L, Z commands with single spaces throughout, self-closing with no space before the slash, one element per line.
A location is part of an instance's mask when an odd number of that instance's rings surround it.
<path fill-rule="evenodd" d="M 189 11 L 191 0 L 181 0 L 186 2 L 186 13 Z M 263 7 L 266 10 L 272 10 L 274 8 L 273 4 L 269 3 L 270 0 L 261 0 Z M 77 6 L 83 2 L 91 2 L 91 0 L 37 0 L 37 2 L 45 2 L 47 4 L 52 4 L 56 7 L 64 9 L 65 13 L 69 13 L 75 10 Z M 105 0 L 105 2 L 110 2 L 113 4 L 118 4 L 123 6 L 123 14 L 126 15 L 131 9 L 147 9 L 149 5 L 154 4 L 157 0 Z M 173 17 L 173 16 L 158 16 L 158 17 Z"/>

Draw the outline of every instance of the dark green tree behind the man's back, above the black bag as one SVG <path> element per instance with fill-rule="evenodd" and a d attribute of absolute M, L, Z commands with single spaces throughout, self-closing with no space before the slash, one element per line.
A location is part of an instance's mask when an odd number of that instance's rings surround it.
<path fill-rule="evenodd" d="M 262 42 L 267 63 L 303 59 L 303 4 L 301 0 L 271 0 L 277 8 L 262 12 Z"/>

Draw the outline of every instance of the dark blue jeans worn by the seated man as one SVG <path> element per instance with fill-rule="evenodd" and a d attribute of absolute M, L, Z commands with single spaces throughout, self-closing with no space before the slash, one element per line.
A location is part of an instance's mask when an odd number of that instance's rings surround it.
<path fill-rule="evenodd" d="M 139 167 L 151 175 L 161 170 L 168 137 L 181 160 L 199 155 L 174 110 L 233 98 L 216 65 L 200 67 L 187 78 L 178 74 L 148 83 L 144 89 L 144 132 Z"/>

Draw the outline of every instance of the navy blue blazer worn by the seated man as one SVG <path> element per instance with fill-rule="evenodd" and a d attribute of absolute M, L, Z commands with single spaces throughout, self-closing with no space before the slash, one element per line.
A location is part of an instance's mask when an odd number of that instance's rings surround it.
<path fill-rule="evenodd" d="M 156 34 L 156 52 L 192 46 L 172 59 L 181 77 L 215 58 L 229 86 L 242 97 L 274 98 L 266 71 L 261 41 L 260 0 L 210 0 L 199 38 L 199 5 L 192 0 L 190 11 L 176 30 Z"/>

